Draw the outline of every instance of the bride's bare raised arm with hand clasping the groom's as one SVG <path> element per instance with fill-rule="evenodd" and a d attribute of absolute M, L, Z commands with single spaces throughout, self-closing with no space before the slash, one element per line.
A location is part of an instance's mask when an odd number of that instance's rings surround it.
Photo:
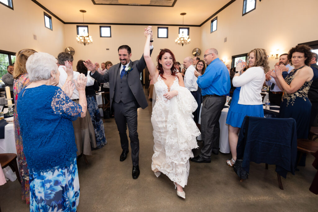
<path fill-rule="evenodd" d="M 151 38 L 151 27 L 149 26 L 147 29 L 145 29 L 144 34 L 146 36 L 146 43 L 145 43 L 145 48 L 143 50 L 143 57 L 146 61 L 148 70 L 149 70 L 149 74 L 151 75 L 154 83 L 156 83 L 157 78 L 158 78 L 158 73 L 156 71 L 156 66 L 155 64 L 152 62 L 152 59 L 150 57 L 150 48 L 149 48 L 149 43 L 150 43 L 150 38 Z"/>

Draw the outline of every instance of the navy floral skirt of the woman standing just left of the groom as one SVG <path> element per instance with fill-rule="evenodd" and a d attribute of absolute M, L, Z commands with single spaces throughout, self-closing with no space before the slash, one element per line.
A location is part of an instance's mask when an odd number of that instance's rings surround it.
<path fill-rule="evenodd" d="M 105 138 L 105 129 L 104 123 L 101 119 L 100 112 L 97 106 L 97 102 L 94 96 L 86 95 L 87 100 L 87 109 L 89 115 L 91 116 L 94 131 L 95 131 L 95 138 L 96 138 L 96 145 L 97 148 L 100 149 L 107 144 L 107 140 Z"/>

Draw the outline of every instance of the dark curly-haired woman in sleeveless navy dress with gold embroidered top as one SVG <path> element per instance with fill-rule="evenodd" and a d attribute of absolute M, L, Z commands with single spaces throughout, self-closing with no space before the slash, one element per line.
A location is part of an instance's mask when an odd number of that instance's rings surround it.
<path fill-rule="evenodd" d="M 310 50 L 307 45 L 297 45 L 289 50 L 287 57 L 295 68 L 285 79 L 282 77 L 282 72 L 286 71 L 285 65 L 275 66 L 275 72 L 269 71 L 279 88 L 284 91 L 280 118 L 296 120 L 297 139 L 308 138 L 311 103 L 307 94 L 314 76 L 313 70 L 308 66 Z"/>

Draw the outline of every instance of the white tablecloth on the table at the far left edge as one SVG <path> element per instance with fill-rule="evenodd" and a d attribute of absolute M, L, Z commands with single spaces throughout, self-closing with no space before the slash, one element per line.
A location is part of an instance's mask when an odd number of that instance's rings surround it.
<path fill-rule="evenodd" d="M 4 113 L 8 112 L 8 108 L 4 108 Z M 12 118 L 11 118 L 12 119 Z M 14 140 L 14 125 L 13 123 L 8 123 L 4 127 L 4 139 L 0 139 L 0 153 L 14 153 L 17 154 L 16 142 Z M 12 172 L 11 168 L 8 166 L 3 170 L 3 174 L 10 181 L 15 181 L 17 176 Z"/>

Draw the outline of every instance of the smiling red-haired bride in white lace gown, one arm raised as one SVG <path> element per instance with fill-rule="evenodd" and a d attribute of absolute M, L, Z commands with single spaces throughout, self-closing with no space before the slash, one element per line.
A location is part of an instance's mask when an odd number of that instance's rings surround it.
<path fill-rule="evenodd" d="M 150 58 L 149 41 L 151 26 L 145 29 L 144 58 L 154 81 L 156 103 L 152 109 L 151 123 L 154 136 L 154 154 L 151 169 L 159 177 L 167 175 L 177 188 L 177 195 L 185 198 L 192 149 L 197 148 L 200 134 L 192 119 L 197 102 L 184 87 L 182 74 L 176 72 L 175 56 L 169 49 L 162 49 L 157 57 L 157 68 Z"/>

